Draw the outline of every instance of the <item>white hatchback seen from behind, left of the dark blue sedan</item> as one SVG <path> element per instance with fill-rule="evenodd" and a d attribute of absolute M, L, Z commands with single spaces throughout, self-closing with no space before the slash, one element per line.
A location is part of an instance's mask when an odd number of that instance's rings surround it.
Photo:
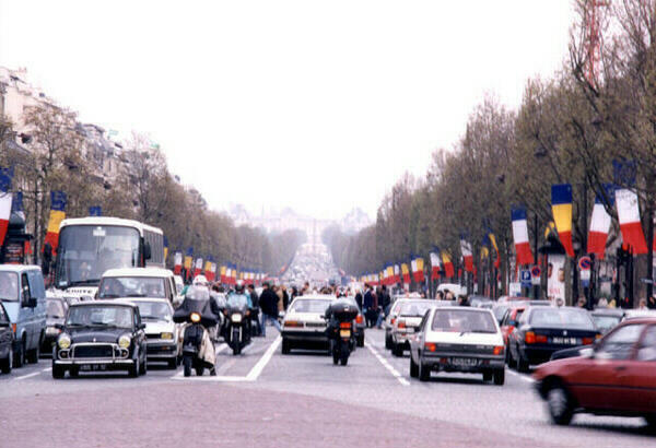
<path fill-rule="evenodd" d="M 432 372 L 482 374 L 505 381 L 505 345 L 489 309 L 433 307 L 410 340 L 410 376 L 427 381 Z"/>

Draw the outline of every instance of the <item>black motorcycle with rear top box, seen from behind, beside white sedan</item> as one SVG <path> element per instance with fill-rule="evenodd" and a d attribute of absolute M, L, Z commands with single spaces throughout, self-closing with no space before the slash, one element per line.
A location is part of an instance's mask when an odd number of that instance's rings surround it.
<path fill-rule="evenodd" d="M 349 363 L 351 352 L 355 350 L 355 329 L 353 321 L 358 317 L 358 306 L 348 302 L 338 300 L 326 310 L 328 322 L 328 340 L 330 341 L 330 353 L 332 364 L 340 363 L 345 366 Z"/>

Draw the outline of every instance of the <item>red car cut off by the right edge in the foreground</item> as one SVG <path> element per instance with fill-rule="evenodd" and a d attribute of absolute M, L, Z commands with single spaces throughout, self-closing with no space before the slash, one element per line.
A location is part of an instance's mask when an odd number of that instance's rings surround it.
<path fill-rule="evenodd" d="M 534 379 L 555 424 L 588 412 L 656 426 L 656 318 L 626 320 L 582 356 L 542 364 Z"/>

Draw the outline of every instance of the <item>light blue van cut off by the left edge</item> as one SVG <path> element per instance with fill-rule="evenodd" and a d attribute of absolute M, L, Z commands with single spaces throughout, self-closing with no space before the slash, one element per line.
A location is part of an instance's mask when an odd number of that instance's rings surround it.
<path fill-rule="evenodd" d="M 46 335 L 46 287 L 40 268 L 0 264 L 0 300 L 14 333 L 13 366 L 37 363 Z"/>

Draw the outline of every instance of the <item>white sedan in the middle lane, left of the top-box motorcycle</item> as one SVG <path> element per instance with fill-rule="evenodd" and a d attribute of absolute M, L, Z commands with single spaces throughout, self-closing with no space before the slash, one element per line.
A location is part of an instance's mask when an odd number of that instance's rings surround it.
<path fill-rule="evenodd" d="M 282 353 L 297 347 L 328 347 L 326 309 L 335 300 L 330 295 L 305 295 L 294 298 L 282 319 Z"/>

